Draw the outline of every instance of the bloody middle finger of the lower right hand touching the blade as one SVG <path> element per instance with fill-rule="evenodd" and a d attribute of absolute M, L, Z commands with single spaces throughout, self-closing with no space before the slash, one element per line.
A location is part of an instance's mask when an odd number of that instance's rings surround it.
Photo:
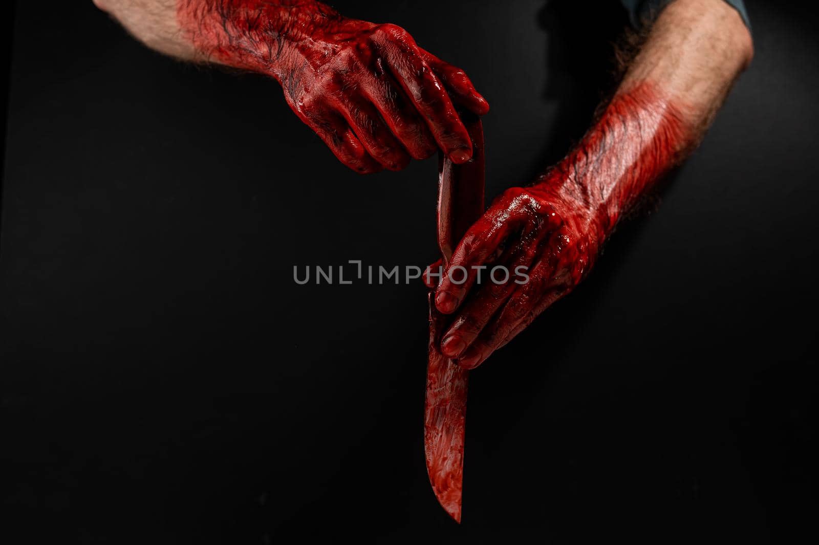
<path fill-rule="evenodd" d="M 482 335 L 486 324 L 489 323 L 498 309 L 504 307 L 513 293 L 521 288 L 514 282 L 513 272 L 518 267 L 527 267 L 536 256 L 536 247 L 519 245 L 512 259 L 501 259 L 500 263 L 507 263 L 500 276 L 495 275 L 495 268 L 486 271 L 488 276 L 474 295 L 470 295 L 464 303 L 458 317 L 444 333 L 441 341 L 441 352 L 450 358 L 458 358 L 465 350 Z M 505 307 L 504 307 L 505 308 Z"/>

